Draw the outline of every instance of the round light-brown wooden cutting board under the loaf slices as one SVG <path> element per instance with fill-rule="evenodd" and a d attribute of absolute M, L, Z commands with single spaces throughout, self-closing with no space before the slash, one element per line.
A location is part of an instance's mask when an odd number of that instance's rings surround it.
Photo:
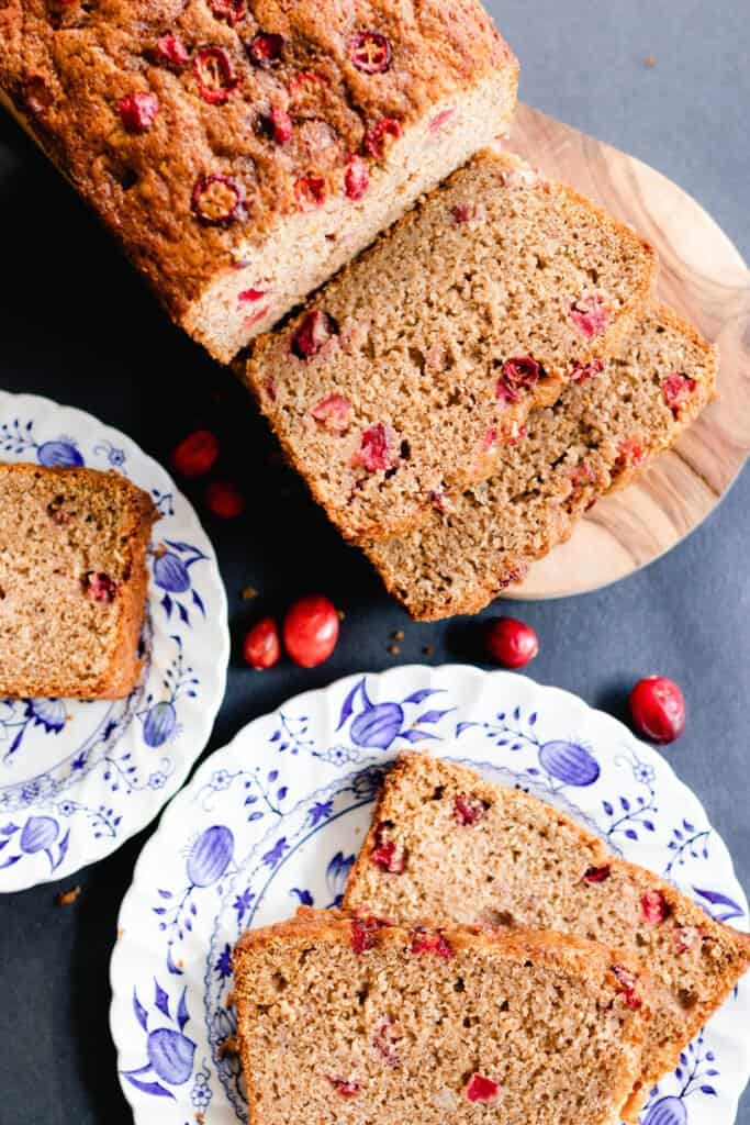
<path fill-rule="evenodd" d="M 600 501 L 507 597 L 582 594 L 670 550 L 750 453 L 750 270 L 685 191 L 609 145 L 521 106 L 507 145 L 631 223 L 661 259 L 659 295 L 721 348 L 720 398 L 636 483 Z"/>

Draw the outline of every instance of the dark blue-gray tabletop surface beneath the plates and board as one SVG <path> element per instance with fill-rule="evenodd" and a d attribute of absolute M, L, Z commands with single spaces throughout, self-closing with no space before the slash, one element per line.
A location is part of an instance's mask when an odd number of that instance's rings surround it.
<path fill-rule="evenodd" d="M 672 177 L 750 255 L 747 0 L 491 7 L 521 55 L 527 101 Z M 658 61 L 653 70 L 643 64 L 649 55 Z M 196 424 L 216 426 L 225 439 L 225 468 L 251 498 L 241 521 L 207 520 L 235 645 L 251 616 L 306 591 L 327 592 L 346 611 L 342 642 L 315 672 L 283 665 L 259 676 L 235 657 L 210 749 L 295 692 L 418 660 L 426 644 L 435 646 L 432 663 L 481 659 L 476 621 L 409 624 L 299 485 L 268 469 L 272 446 L 238 388 L 165 324 L 96 224 L 4 120 L 0 237 L 0 386 L 89 410 L 162 460 Z M 540 632 L 534 676 L 615 714 L 624 713 L 640 676 L 658 670 L 679 681 L 689 724 L 667 756 L 728 842 L 746 888 L 749 504 L 746 472 L 702 529 L 645 572 L 597 594 L 513 610 Z M 252 606 L 238 597 L 249 584 L 262 591 Z M 398 628 L 406 640 L 392 657 L 386 649 Z M 55 886 L 0 900 L 0 1125 L 130 1120 L 107 1026 L 108 961 L 119 901 L 147 835 L 67 880 L 83 886 L 75 907 L 56 908 Z M 739 1122 L 750 1125 L 747 1097 Z"/>

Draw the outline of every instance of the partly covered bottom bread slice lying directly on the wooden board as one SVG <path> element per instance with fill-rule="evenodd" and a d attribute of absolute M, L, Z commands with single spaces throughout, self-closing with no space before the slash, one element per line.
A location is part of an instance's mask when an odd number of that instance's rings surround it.
<path fill-rule="evenodd" d="M 572 533 L 602 495 L 647 468 L 714 395 L 719 353 L 653 304 L 620 358 L 533 411 L 490 480 L 416 531 L 365 549 L 389 593 L 419 621 L 477 613 Z M 684 397 L 669 405 L 668 380 Z"/>

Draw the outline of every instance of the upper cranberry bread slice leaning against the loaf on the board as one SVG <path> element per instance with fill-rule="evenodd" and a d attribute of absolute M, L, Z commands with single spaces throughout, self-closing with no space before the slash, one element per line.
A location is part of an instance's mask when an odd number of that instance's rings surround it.
<path fill-rule="evenodd" d="M 389 539 L 491 476 L 532 407 L 621 350 L 654 273 L 630 228 L 486 151 L 241 374 L 343 534 Z"/>

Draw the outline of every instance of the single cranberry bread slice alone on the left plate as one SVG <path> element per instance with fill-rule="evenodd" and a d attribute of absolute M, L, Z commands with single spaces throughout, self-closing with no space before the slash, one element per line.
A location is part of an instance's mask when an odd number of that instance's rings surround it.
<path fill-rule="evenodd" d="M 130 693 L 156 519 L 116 472 L 0 465 L 0 699 Z"/>

